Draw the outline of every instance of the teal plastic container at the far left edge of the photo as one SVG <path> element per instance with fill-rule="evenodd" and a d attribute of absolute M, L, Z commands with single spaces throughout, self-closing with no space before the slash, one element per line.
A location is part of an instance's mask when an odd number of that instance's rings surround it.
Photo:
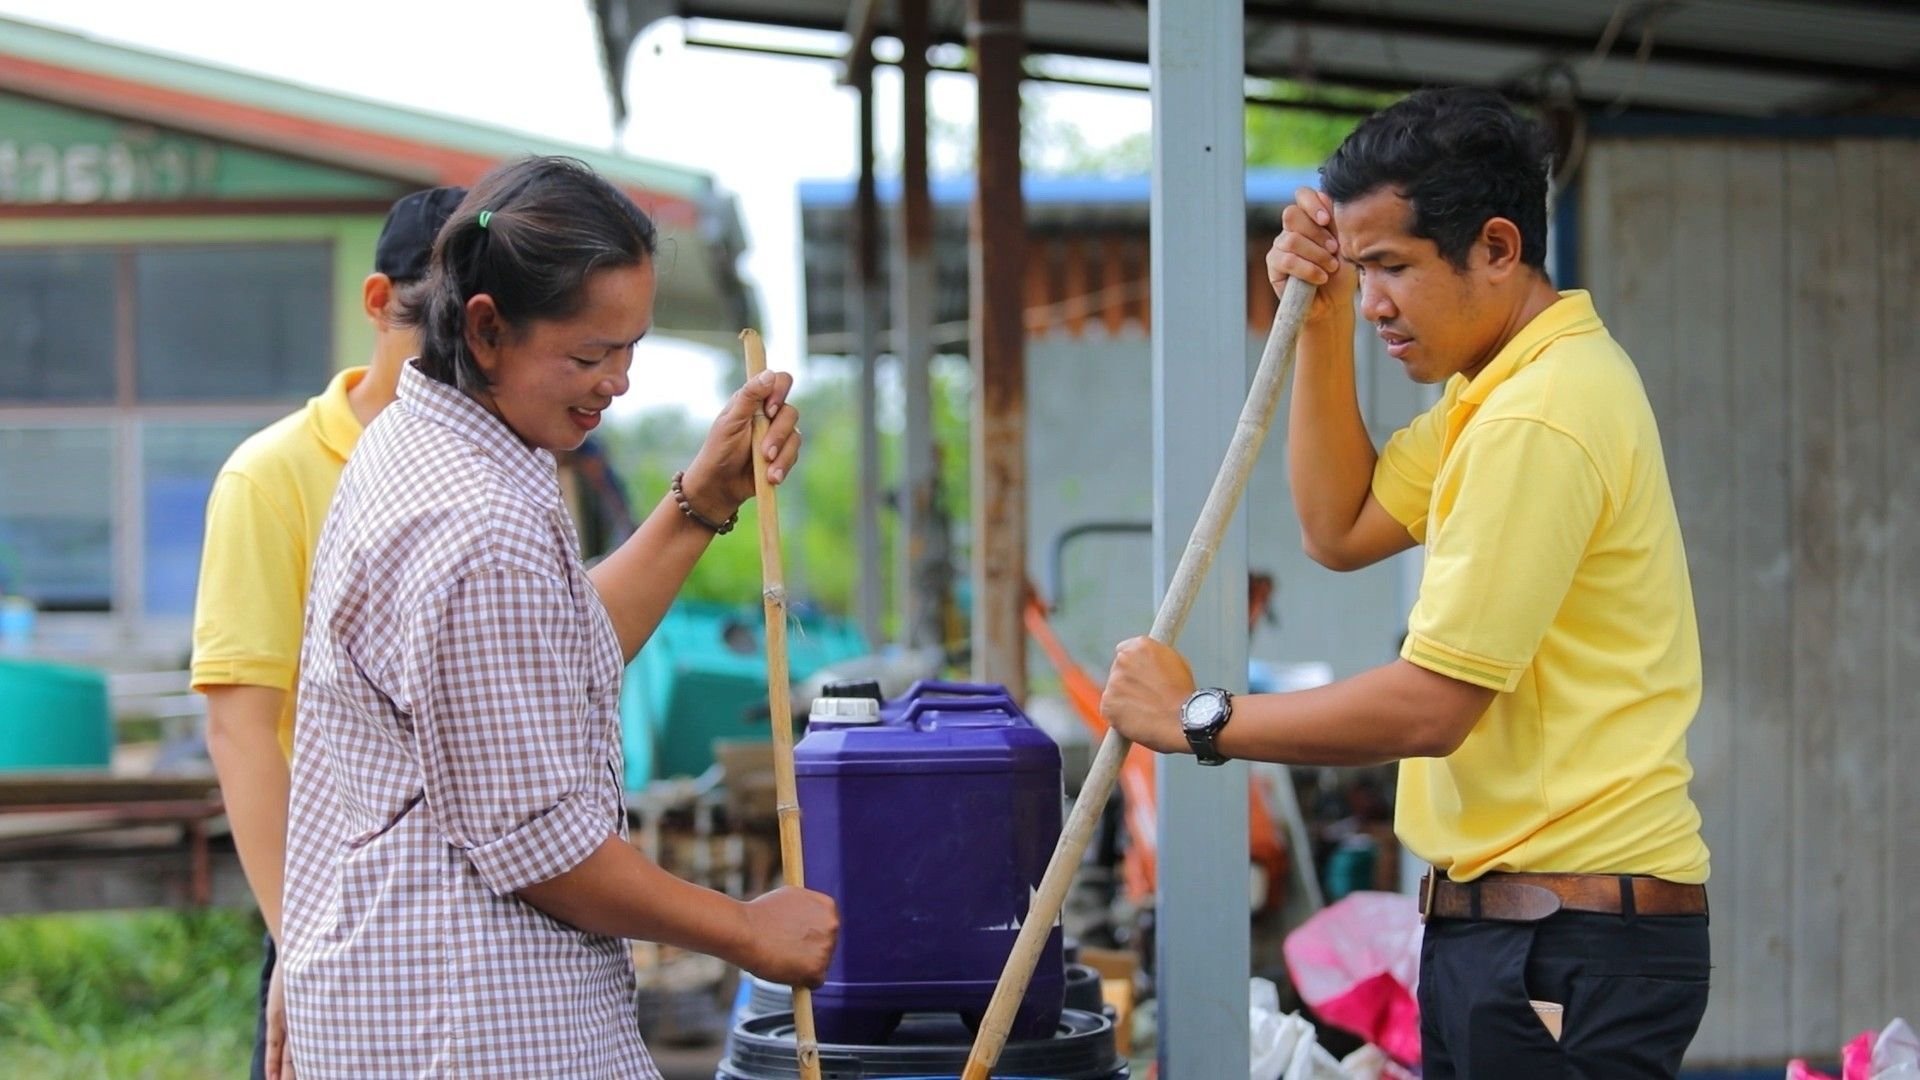
<path fill-rule="evenodd" d="M 106 769 L 111 757 L 104 675 L 0 657 L 0 773 Z"/>

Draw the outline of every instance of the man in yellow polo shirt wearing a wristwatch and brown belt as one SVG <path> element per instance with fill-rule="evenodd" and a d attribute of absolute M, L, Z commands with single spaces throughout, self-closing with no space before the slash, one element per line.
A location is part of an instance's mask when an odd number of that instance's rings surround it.
<path fill-rule="evenodd" d="M 1332 569 L 1427 548 L 1400 659 L 1300 694 L 1194 690 L 1119 646 L 1102 709 L 1204 763 L 1402 761 L 1423 886 L 1427 1080 L 1674 1076 L 1707 1007 L 1707 847 L 1688 798 L 1701 667 L 1653 409 L 1584 292 L 1546 275 L 1548 142 L 1484 90 L 1369 117 L 1267 256 L 1319 286 L 1288 467 Z M 1379 454 L 1354 298 L 1428 413 Z M 1551 1024 L 1548 1022 L 1551 1020 Z"/>

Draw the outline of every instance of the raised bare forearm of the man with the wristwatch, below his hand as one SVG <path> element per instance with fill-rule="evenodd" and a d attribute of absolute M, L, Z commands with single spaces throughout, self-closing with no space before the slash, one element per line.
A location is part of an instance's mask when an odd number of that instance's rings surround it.
<path fill-rule="evenodd" d="M 1286 415 L 1286 469 L 1309 546 L 1338 548 L 1373 486 L 1373 440 L 1354 386 L 1354 315 L 1302 327 Z"/>

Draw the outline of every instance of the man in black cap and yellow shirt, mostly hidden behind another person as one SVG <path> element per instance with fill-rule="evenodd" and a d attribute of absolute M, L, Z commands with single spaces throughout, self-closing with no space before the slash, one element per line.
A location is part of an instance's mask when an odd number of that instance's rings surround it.
<path fill-rule="evenodd" d="M 434 234 L 465 196 L 465 188 L 432 188 L 394 204 L 374 244 L 374 273 L 361 284 L 374 325 L 372 359 L 342 371 L 303 409 L 242 442 L 207 498 L 192 682 L 207 696 L 207 749 L 240 869 L 267 920 L 255 1080 L 284 1074 L 286 1007 L 275 978 L 275 942 L 307 571 L 348 454 L 394 402 L 399 369 L 419 352 L 419 332 L 394 313 L 426 277 Z"/>

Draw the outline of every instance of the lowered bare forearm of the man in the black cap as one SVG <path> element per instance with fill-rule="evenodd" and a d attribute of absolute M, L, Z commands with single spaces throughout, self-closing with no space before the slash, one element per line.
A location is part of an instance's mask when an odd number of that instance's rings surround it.
<path fill-rule="evenodd" d="M 292 792 L 278 734 L 284 700 L 286 692 L 271 686 L 207 688 L 207 753 L 221 780 L 240 869 L 275 942 L 280 940 L 286 803 Z"/>

